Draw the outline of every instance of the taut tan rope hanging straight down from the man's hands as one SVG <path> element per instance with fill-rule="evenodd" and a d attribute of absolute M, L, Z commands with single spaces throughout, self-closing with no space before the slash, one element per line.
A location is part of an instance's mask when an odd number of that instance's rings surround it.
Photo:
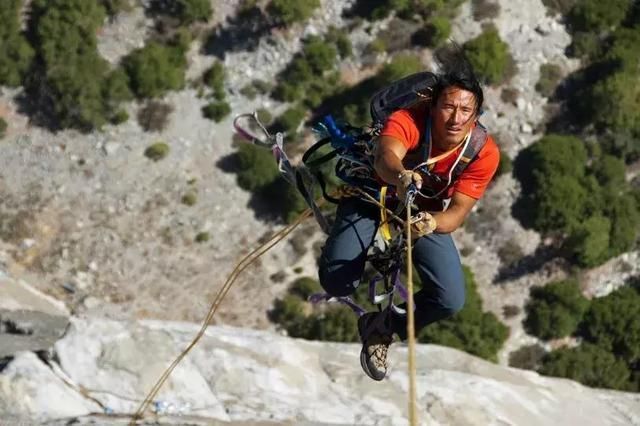
<path fill-rule="evenodd" d="M 411 256 L 411 208 L 407 205 L 407 338 L 409 343 L 409 424 L 418 424 L 416 406 L 416 336 L 413 312 L 413 259 Z"/>

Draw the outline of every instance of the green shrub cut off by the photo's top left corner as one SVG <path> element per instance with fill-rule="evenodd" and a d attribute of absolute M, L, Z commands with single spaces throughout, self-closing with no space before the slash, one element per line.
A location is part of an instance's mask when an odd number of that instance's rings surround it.
<path fill-rule="evenodd" d="M 34 51 L 20 29 L 22 0 L 5 0 L 0 8 L 0 85 L 19 86 Z"/>

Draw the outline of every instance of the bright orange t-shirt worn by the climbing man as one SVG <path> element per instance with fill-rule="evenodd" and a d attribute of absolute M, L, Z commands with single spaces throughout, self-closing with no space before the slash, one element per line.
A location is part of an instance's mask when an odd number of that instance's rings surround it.
<path fill-rule="evenodd" d="M 411 151 L 418 149 L 421 143 L 424 143 L 426 120 L 428 110 L 426 108 L 401 109 L 395 111 L 389 116 L 387 122 L 380 133 L 380 136 L 389 136 L 399 140 L 405 147 Z M 437 161 L 432 173 L 439 176 L 448 176 L 449 170 L 458 158 L 462 146 L 452 152 L 447 157 Z M 431 157 L 443 154 L 444 151 L 438 150 L 435 146 L 431 147 Z M 426 161 L 426 158 L 422 161 Z M 461 192 L 476 200 L 482 197 L 485 189 L 491 182 L 491 178 L 495 174 L 498 163 L 500 162 L 500 151 L 491 136 L 487 137 L 480 152 L 458 179 L 451 185 L 440 197 L 441 199 L 451 198 L 454 192 Z"/>

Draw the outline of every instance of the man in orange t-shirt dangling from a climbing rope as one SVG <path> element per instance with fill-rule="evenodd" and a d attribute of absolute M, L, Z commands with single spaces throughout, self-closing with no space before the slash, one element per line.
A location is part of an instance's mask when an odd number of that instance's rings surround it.
<path fill-rule="evenodd" d="M 493 139 L 477 127 L 483 92 L 471 66 L 461 57 L 441 64 L 443 73 L 429 101 L 391 114 L 380 133 L 375 154 L 379 178 L 396 187 L 404 199 L 415 185 L 423 196 L 416 198 L 427 212 L 418 226 L 412 259 L 423 288 L 415 294 L 415 330 L 453 315 L 464 305 L 464 276 L 450 235 L 482 197 L 498 167 L 500 154 Z M 470 138 L 482 130 L 483 145 L 462 173 L 453 170 Z M 429 142 L 430 141 L 430 142 Z M 424 148 L 429 148 L 425 152 Z M 423 158 L 412 158 L 420 152 Z M 426 156 L 426 158 L 424 158 Z M 432 163 L 427 173 L 414 171 L 416 163 Z M 319 278 L 333 296 L 356 290 L 364 272 L 367 250 L 380 224 L 379 208 L 352 197 L 338 206 L 336 222 L 320 259 Z M 374 380 L 387 372 L 387 349 L 393 334 L 406 339 L 406 317 L 390 310 L 370 312 L 358 320 L 363 342 L 362 368 Z"/>

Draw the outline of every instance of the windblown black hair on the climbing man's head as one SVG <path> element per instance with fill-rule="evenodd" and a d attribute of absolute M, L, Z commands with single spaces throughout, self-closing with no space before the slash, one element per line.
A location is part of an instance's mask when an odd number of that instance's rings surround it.
<path fill-rule="evenodd" d="M 450 42 L 435 54 L 439 67 L 438 82 L 433 88 L 432 105 L 435 105 L 442 92 L 451 86 L 456 86 L 473 93 L 476 98 L 476 114 L 482 112 L 484 93 L 480 81 L 473 71 L 473 66 L 464 54 L 460 45 Z"/>

